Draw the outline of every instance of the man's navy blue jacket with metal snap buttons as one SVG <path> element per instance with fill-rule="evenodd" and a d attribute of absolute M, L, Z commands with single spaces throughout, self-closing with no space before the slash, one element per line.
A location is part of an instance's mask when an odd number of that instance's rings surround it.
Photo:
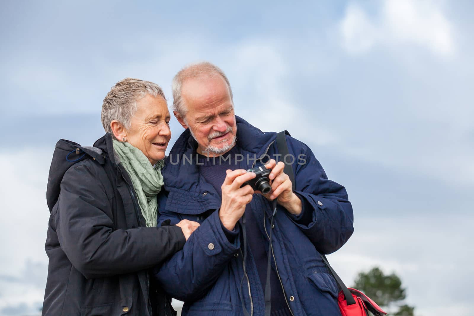
<path fill-rule="evenodd" d="M 296 158 L 293 163 L 295 192 L 305 199 L 305 212 L 311 212 L 312 220 L 308 226 L 300 225 L 284 208 L 278 207 L 273 223 L 272 264 L 276 262 L 281 286 L 293 315 L 340 315 L 336 301 L 337 285 L 320 253 L 335 252 L 352 235 L 352 206 L 344 187 L 328 180 L 310 148 L 290 136 L 286 137 L 289 151 Z M 237 117 L 237 145 L 245 157 L 242 169 L 251 167 L 253 163 L 247 165 L 247 155 L 259 158 L 266 153 L 276 157 L 275 138 L 276 133 L 263 133 Z M 196 141 L 186 130 L 170 152 L 163 169 L 166 190 L 158 198 L 158 225 L 165 220 L 176 224 L 189 219 L 201 226 L 192 233 L 181 251 L 160 266 L 155 277 L 165 291 L 185 302 L 183 316 L 243 315 L 240 295 L 251 315 L 264 315 L 263 287 L 250 249 L 247 246 L 244 273 L 241 238 L 229 243 L 222 230 L 219 220 L 221 200 L 212 185 L 198 172 L 196 147 Z M 191 156 L 193 163 L 189 163 Z M 289 157 L 288 160 L 291 161 Z M 255 163 L 262 164 L 259 160 Z M 272 229 L 268 219 L 272 214 L 271 203 L 255 194 L 251 208 L 260 233 L 268 237 L 268 231 Z M 265 240 L 265 249 L 268 249 L 268 238 Z"/>

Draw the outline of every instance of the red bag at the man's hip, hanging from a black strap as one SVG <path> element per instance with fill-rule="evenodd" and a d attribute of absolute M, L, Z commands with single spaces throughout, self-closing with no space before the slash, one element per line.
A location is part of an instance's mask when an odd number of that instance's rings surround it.
<path fill-rule="evenodd" d="M 354 299 L 353 304 L 347 305 L 346 295 L 344 291 L 339 292 L 339 297 L 337 298 L 337 304 L 341 310 L 342 316 L 369 316 L 368 311 L 370 311 L 375 316 L 387 315 L 372 299 L 367 295 L 359 291 L 358 289 L 347 288 L 352 294 Z M 352 303 L 352 300 L 349 299 L 349 303 Z"/>

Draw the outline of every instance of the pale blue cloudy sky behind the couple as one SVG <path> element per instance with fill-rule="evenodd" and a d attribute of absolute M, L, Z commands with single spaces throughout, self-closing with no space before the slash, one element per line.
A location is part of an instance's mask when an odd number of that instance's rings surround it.
<path fill-rule="evenodd" d="M 118 80 L 160 84 L 219 65 L 237 115 L 307 143 L 346 186 L 355 233 L 329 256 L 351 284 L 397 273 L 423 316 L 467 316 L 474 283 L 473 2 L 131 4 L 3 1 L 0 315 L 37 315 L 47 273 L 46 182 L 59 138 L 103 135 Z M 172 143 L 182 131 L 172 121 Z"/>

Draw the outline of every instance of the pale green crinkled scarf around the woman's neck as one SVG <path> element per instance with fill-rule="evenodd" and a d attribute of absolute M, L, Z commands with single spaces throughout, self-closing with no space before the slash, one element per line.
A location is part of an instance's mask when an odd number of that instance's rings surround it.
<path fill-rule="evenodd" d="M 125 170 L 132 180 L 133 188 L 137 192 L 138 205 L 145 217 L 146 227 L 156 226 L 158 215 L 158 201 L 156 195 L 163 186 L 161 169 L 164 161 L 160 160 L 153 167 L 145 154 L 137 147 L 126 142 L 112 141 L 115 153 L 120 158 Z"/>

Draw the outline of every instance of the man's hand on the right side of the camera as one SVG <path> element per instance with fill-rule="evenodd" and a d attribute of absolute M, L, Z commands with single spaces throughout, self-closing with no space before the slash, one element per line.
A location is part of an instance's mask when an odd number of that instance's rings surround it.
<path fill-rule="evenodd" d="M 283 172 L 285 164 L 271 159 L 265 164 L 267 169 L 272 169 L 268 176 L 271 181 L 272 190 L 264 195 L 265 198 L 277 199 L 278 204 L 286 208 L 288 212 L 298 216 L 301 214 L 301 199 L 293 192 L 292 181 L 287 174 Z"/>

